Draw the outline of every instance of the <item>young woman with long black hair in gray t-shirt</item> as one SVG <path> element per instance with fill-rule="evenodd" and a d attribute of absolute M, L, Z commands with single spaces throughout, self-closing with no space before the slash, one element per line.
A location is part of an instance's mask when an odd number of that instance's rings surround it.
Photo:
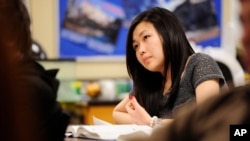
<path fill-rule="evenodd" d="M 201 103 L 225 84 L 217 63 L 195 53 L 177 17 L 160 7 L 132 21 L 126 63 L 133 90 L 114 108 L 117 124 L 171 122 L 179 108 Z"/>

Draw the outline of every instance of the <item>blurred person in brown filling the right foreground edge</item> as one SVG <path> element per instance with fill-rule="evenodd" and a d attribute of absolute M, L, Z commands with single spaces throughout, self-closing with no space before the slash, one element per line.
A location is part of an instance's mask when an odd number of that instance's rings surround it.
<path fill-rule="evenodd" d="M 250 71 L 250 0 L 239 0 L 244 65 Z M 170 125 L 158 126 L 151 135 L 141 132 L 121 136 L 119 141 L 229 141 L 230 125 L 250 125 L 250 86 L 240 86 L 216 95 L 199 106 L 176 114 Z M 249 136 L 249 133 L 247 133 Z M 241 141 L 244 138 L 238 136 Z"/>

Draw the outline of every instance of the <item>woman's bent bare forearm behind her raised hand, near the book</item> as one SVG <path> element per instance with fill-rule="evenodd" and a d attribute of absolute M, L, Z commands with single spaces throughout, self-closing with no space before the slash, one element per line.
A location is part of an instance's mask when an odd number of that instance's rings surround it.
<path fill-rule="evenodd" d="M 126 110 L 126 104 L 129 102 L 129 96 L 126 96 L 118 103 L 113 110 L 113 118 L 116 124 L 132 124 L 133 121 Z"/>

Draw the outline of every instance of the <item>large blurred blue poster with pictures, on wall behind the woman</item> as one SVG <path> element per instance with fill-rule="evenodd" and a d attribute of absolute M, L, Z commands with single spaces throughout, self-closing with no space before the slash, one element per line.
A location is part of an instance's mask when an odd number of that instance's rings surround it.
<path fill-rule="evenodd" d="M 177 15 L 190 41 L 220 47 L 221 0 L 58 0 L 59 58 L 124 56 L 131 20 L 160 6 Z"/>

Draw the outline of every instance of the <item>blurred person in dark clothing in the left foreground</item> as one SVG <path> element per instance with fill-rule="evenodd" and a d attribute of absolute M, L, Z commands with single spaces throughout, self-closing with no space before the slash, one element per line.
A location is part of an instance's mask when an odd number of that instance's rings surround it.
<path fill-rule="evenodd" d="M 6 108 L 15 109 L 8 111 L 13 113 L 9 119 L 6 118 L 7 121 L 13 119 L 10 121 L 13 126 L 7 125 L 10 132 L 15 136 L 18 129 L 23 128 L 29 130 L 28 136 L 34 136 L 36 140 L 63 141 L 69 116 L 56 101 L 58 70 L 45 70 L 32 58 L 31 20 L 22 0 L 1 0 L 0 21 L 0 45 L 8 51 L 2 52 L 4 56 L 1 57 L 7 60 L 10 68 L 16 69 L 8 70 L 8 66 L 2 68 L 7 69 L 5 72 L 10 75 L 10 80 L 15 80 L 9 89 L 10 94 L 15 95 L 5 95 L 6 100 L 12 102 L 7 103 Z M 23 118 L 17 120 L 15 116 L 20 113 L 23 113 Z M 25 134 L 20 136 L 24 137 Z"/>

